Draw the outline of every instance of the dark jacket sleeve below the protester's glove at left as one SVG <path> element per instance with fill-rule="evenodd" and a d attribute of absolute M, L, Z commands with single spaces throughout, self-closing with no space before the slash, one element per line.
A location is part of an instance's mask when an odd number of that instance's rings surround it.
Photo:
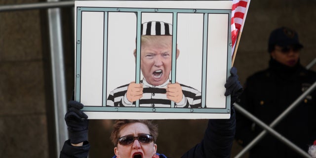
<path fill-rule="evenodd" d="M 59 158 L 87 158 L 89 149 L 90 144 L 87 141 L 83 142 L 83 146 L 81 147 L 74 147 L 70 144 L 70 140 L 67 140 L 64 143 Z"/>

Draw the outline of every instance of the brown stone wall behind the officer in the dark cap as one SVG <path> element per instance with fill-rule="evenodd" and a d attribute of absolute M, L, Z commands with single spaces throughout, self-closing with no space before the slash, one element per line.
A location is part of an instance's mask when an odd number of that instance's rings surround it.
<path fill-rule="evenodd" d="M 316 58 L 315 21 L 316 0 L 252 0 L 239 43 L 235 66 L 240 80 L 268 67 L 268 38 L 270 32 L 287 26 L 298 32 L 301 43 L 301 63 Z M 316 70 L 316 66 L 312 68 Z"/>

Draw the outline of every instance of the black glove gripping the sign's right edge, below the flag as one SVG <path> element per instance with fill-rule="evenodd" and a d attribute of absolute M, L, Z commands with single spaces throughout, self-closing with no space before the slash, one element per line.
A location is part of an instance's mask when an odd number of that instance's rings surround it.
<path fill-rule="evenodd" d="M 238 80 L 237 69 L 235 67 L 232 67 L 231 69 L 231 76 L 227 79 L 225 88 L 225 96 L 231 95 L 231 104 L 233 105 L 243 90 L 240 81 Z"/>

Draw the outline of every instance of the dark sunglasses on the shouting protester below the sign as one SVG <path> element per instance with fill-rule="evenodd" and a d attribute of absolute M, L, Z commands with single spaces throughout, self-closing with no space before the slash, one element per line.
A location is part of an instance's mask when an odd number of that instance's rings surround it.
<path fill-rule="evenodd" d="M 120 137 L 118 138 L 118 143 L 120 145 L 129 145 L 132 144 L 135 139 L 137 139 L 141 143 L 151 143 L 154 141 L 153 136 L 150 134 L 139 134 L 137 137 L 131 135 Z"/>

